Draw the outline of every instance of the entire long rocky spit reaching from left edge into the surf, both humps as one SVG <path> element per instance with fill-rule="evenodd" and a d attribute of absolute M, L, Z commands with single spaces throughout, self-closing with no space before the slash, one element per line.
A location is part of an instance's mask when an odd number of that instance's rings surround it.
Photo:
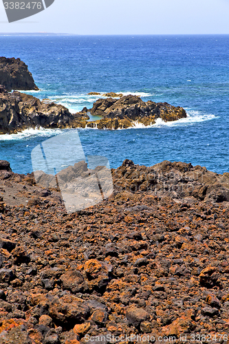
<path fill-rule="evenodd" d="M 89 120 L 102 116 L 100 120 Z M 92 109 L 71 114 L 63 105 L 50 100 L 39 100 L 34 96 L 20 92 L 8 93 L 0 85 L 0 133 L 17 133 L 23 129 L 43 128 L 85 128 L 98 129 L 129 128 L 135 125 L 153 125 L 157 118 L 164 121 L 185 118 L 182 107 L 173 107 L 168 103 L 144 103 L 138 96 L 122 96 L 120 99 L 100 98 Z"/>

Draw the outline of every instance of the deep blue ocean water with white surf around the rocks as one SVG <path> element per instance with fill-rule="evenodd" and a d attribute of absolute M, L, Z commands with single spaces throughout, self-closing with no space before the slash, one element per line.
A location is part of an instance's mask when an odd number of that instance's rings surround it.
<path fill-rule="evenodd" d="M 89 92 L 137 94 L 186 109 L 175 122 L 153 127 L 79 129 L 85 155 L 104 155 L 116 168 L 125 158 L 151 166 L 162 160 L 229 171 L 229 35 L 0 35 L 0 56 L 19 57 L 39 92 L 73 113 L 92 107 Z M 28 129 L 0 135 L 0 159 L 14 172 L 32 172 L 31 151 L 63 131 Z"/>

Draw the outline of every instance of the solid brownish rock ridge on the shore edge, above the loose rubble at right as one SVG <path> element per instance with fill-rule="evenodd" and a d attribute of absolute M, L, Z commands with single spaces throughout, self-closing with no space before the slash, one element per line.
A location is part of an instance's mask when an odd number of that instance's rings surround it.
<path fill-rule="evenodd" d="M 113 170 L 113 182 L 116 188 L 122 191 L 149 191 L 158 196 L 169 196 L 187 202 L 229 201 L 228 173 L 220 175 L 207 171 L 205 167 L 184 162 L 165 160 L 146 167 L 135 165 L 131 160 L 126 159 L 122 166 Z M 222 197 L 219 197 L 219 194 Z M 182 211 L 188 206 L 184 204 Z"/>

